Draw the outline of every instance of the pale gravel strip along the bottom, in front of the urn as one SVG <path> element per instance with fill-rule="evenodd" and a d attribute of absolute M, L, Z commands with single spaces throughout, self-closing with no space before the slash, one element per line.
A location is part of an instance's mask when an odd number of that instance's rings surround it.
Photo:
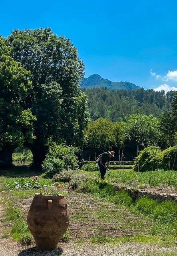
<path fill-rule="evenodd" d="M 177 255 L 174 247 L 162 248 L 150 244 L 123 243 L 117 246 L 90 245 L 82 246 L 74 243 L 60 244 L 56 250 L 49 252 L 40 252 L 35 247 L 26 248 L 16 243 L 0 242 L 0 256 L 156 256 L 173 252 Z"/>

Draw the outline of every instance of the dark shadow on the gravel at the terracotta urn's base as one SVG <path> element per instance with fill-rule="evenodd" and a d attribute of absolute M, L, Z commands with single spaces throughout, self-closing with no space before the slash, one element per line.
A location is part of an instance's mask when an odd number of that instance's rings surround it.
<path fill-rule="evenodd" d="M 58 247 L 52 251 L 39 251 L 36 247 L 28 248 L 18 254 L 18 256 L 60 256 L 63 254 L 62 248 Z"/>

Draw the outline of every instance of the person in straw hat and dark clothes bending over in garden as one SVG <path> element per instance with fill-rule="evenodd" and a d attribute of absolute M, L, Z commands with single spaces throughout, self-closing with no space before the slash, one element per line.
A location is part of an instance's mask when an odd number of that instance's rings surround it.
<path fill-rule="evenodd" d="M 113 151 L 108 151 L 108 153 L 105 152 L 98 156 L 98 158 L 99 158 L 98 165 L 99 165 L 99 170 L 100 170 L 100 174 L 101 174 L 101 180 L 104 180 L 106 170 L 109 168 L 109 161 L 110 161 L 111 157 L 114 157 L 114 154 L 115 153 Z M 107 168 L 105 166 L 106 163 L 107 163 Z"/>

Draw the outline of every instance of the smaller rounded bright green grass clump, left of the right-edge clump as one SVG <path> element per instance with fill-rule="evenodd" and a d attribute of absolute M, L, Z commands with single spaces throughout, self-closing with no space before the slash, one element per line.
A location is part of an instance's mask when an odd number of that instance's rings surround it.
<path fill-rule="evenodd" d="M 139 212 L 142 212 L 145 214 L 151 214 L 156 205 L 157 205 L 157 202 L 155 200 L 147 197 L 139 198 L 135 204 Z"/>

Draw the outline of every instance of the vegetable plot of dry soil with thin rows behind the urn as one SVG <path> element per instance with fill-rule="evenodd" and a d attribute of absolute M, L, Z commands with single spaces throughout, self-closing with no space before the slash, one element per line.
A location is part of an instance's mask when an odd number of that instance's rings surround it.
<path fill-rule="evenodd" d="M 32 199 L 31 196 L 15 199 L 24 218 L 27 218 Z M 151 232 L 150 221 L 103 199 L 96 200 L 88 194 L 72 193 L 66 196 L 66 202 L 70 214 L 69 238 L 72 240 L 93 236 L 146 235 Z"/>

